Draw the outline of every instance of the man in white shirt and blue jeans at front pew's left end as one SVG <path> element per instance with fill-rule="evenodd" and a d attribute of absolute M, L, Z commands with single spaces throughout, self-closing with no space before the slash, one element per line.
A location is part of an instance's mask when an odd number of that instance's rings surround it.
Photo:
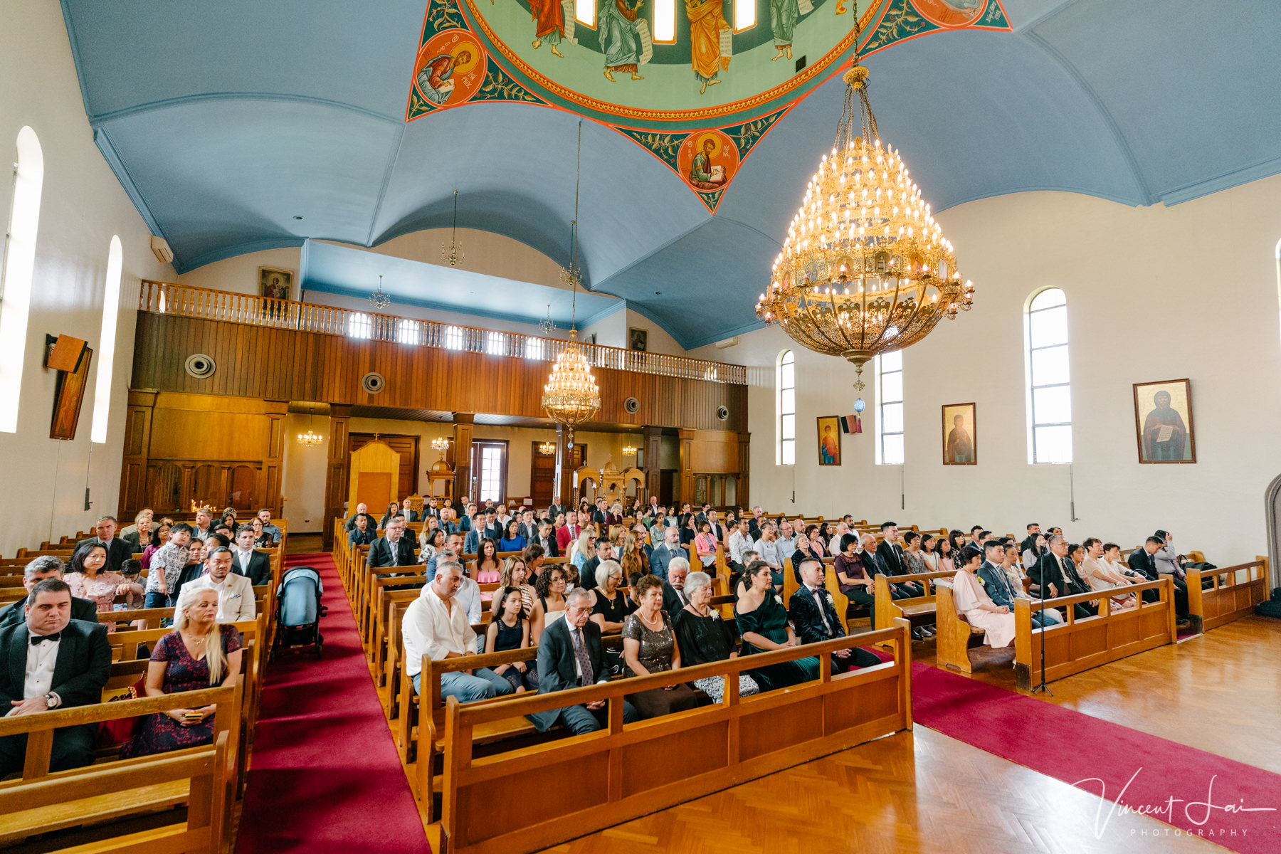
<path fill-rule="evenodd" d="M 462 586 L 462 567 L 457 563 L 437 565 L 436 577 L 405 609 L 401 635 L 405 638 L 405 673 L 420 693 L 423 656 L 432 661 L 474 656 L 477 632 L 468 615 L 453 597 Z M 441 675 L 441 697 L 456 697 L 460 703 L 511 693 L 511 682 L 492 670 L 482 667 L 475 673 L 455 671 Z"/>

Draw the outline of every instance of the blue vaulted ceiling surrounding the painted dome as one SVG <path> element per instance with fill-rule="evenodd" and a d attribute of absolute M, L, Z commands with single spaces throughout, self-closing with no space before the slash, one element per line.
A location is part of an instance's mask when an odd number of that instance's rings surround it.
<path fill-rule="evenodd" d="M 459 225 L 567 260 L 578 119 L 484 102 L 406 124 L 424 5 L 63 0 L 99 147 L 179 271 L 441 228 L 453 189 Z M 1003 5 L 1012 33 L 930 35 L 866 60 L 881 133 L 935 210 L 1026 189 L 1172 204 L 1281 172 L 1281 3 Z M 715 215 L 644 149 L 585 122 L 592 289 L 685 347 L 757 325 L 842 93 L 829 81 L 779 120 Z M 542 297 L 528 309 L 541 316 Z"/>

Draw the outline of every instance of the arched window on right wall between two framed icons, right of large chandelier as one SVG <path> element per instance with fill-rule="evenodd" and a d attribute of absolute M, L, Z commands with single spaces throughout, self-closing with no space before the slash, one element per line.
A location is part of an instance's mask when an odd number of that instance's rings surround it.
<path fill-rule="evenodd" d="M 1072 389 L 1067 360 L 1067 297 L 1058 288 L 1027 303 L 1027 461 L 1072 461 Z"/>

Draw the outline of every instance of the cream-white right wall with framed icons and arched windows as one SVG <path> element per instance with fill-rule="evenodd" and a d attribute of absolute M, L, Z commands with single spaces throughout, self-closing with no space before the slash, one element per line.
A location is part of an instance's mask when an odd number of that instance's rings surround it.
<path fill-rule="evenodd" d="M 839 357 L 794 347 L 776 328 L 690 353 L 753 369 L 752 502 L 1020 535 L 1038 521 L 1123 547 L 1161 528 L 1220 565 L 1264 553 L 1264 489 L 1281 474 L 1281 177 L 1168 209 L 1020 193 L 939 222 L 977 291 L 972 311 L 904 351 L 906 466 L 875 465 L 875 417 L 843 437 L 844 465 L 817 466 L 815 417 L 853 411 L 854 370 Z M 1022 316 L 1050 286 L 1068 306 L 1076 521 L 1067 466 L 1027 462 Z M 776 466 L 774 364 L 787 347 L 797 353 L 797 465 Z M 1184 376 L 1196 463 L 1140 465 L 1131 384 Z M 870 412 L 870 382 L 862 396 Z M 943 466 L 939 407 L 970 401 L 979 465 Z"/>

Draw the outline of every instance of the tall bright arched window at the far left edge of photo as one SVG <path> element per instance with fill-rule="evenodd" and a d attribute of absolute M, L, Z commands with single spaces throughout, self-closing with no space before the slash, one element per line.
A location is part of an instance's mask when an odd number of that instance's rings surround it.
<path fill-rule="evenodd" d="M 27 351 L 31 277 L 36 266 L 40 191 L 45 183 L 45 155 L 36 132 L 18 131 L 18 161 L 13 170 L 13 202 L 0 262 L 0 431 L 18 430 L 22 359 Z"/>

